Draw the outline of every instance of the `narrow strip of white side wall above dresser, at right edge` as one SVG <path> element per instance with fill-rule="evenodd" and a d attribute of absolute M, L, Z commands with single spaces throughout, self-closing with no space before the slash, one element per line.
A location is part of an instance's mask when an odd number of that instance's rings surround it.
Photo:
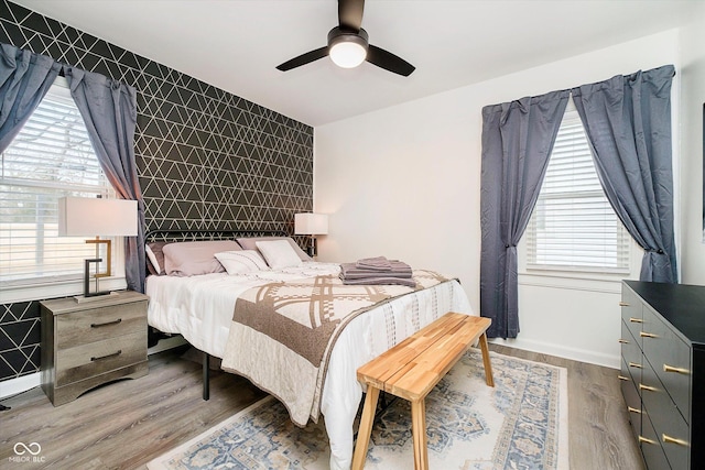
<path fill-rule="evenodd" d="M 703 244 L 703 103 L 705 103 L 705 3 L 681 30 L 681 280 L 705 284 Z"/>

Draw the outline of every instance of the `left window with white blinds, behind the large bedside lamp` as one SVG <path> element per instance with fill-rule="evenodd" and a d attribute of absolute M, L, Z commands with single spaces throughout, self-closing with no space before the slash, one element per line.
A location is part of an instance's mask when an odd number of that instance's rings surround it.
<path fill-rule="evenodd" d="M 57 200 L 98 195 L 115 197 L 59 77 L 1 155 L 0 288 L 82 277 L 95 247 L 57 236 Z"/>

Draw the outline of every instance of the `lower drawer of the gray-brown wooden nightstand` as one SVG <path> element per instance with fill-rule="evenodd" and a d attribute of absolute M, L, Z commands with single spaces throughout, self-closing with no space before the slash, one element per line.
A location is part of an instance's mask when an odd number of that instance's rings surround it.
<path fill-rule="evenodd" d="M 147 330 L 56 352 L 56 386 L 120 369 L 147 358 Z"/>

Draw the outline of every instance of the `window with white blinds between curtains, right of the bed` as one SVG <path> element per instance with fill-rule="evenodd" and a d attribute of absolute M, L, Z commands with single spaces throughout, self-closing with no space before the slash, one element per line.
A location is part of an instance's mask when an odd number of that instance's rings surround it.
<path fill-rule="evenodd" d="M 629 272 L 630 236 L 599 184 L 572 101 L 525 237 L 528 270 Z"/>

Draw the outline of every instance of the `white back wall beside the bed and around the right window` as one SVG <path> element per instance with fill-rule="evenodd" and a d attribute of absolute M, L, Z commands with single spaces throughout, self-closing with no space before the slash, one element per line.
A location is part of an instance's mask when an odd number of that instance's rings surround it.
<path fill-rule="evenodd" d="M 330 214 L 319 260 L 386 255 L 452 274 L 477 309 L 481 108 L 664 64 L 677 69 L 677 55 L 671 30 L 316 128 L 314 204 Z M 618 365 L 619 282 L 534 284 L 520 286 L 516 347 Z"/>

